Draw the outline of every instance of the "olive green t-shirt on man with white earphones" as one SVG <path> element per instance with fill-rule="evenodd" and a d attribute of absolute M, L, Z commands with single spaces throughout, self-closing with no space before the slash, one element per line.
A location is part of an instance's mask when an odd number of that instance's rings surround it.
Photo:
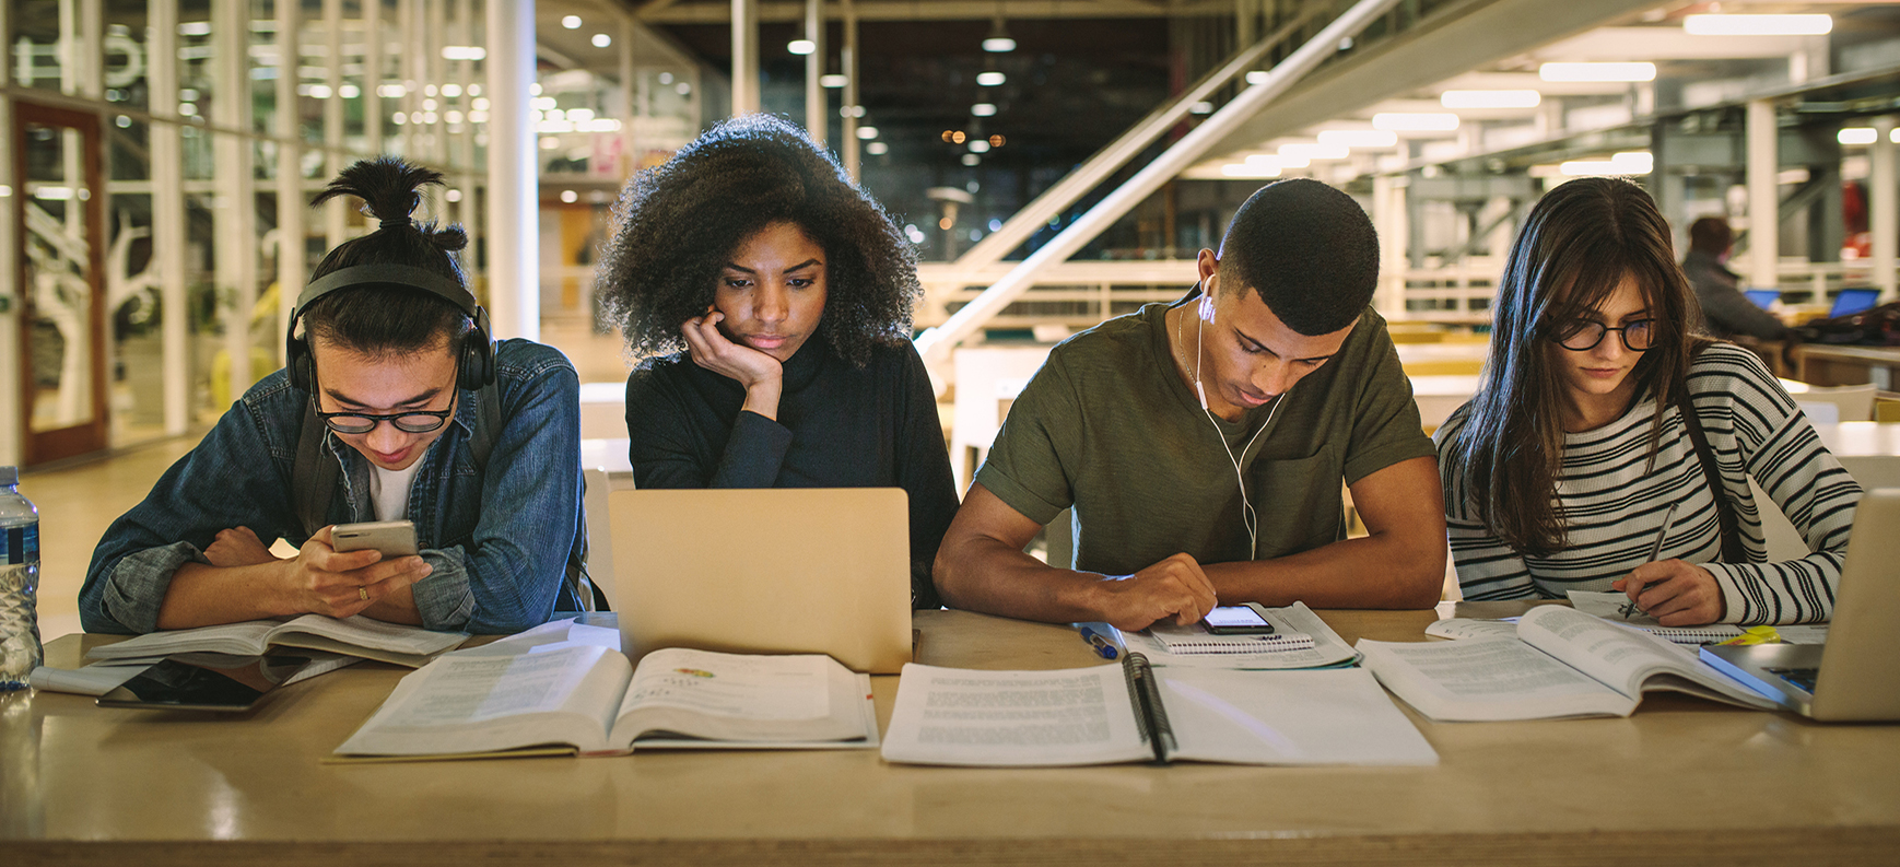
<path fill-rule="evenodd" d="M 1340 354 L 1241 422 L 1216 422 L 1174 373 L 1168 304 L 1104 321 L 1049 352 L 977 481 L 1036 523 L 1074 506 L 1074 568 L 1130 574 L 1174 553 L 1273 559 L 1345 538 L 1340 481 L 1434 454 L 1385 319 L 1366 308 Z M 1233 458 L 1260 515 L 1248 553 Z"/>

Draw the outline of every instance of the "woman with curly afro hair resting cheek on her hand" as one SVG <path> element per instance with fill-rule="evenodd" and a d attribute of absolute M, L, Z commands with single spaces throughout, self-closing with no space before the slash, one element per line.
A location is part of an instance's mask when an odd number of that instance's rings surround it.
<path fill-rule="evenodd" d="M 916 255 L 798 127 L 728 120 L 627 183 L 597 297 L 640 357 L 627 376 L 644 489 L 902 487 L 910 593 L 958 498 L 910 344 Z"/>

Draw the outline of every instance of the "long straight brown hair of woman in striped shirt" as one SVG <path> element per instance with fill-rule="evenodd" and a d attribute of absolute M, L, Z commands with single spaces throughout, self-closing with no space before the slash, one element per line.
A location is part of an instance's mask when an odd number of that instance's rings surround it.
<path fill-rule="evenodd" d="M 1446 502 L 1471 513 L 1518 551 L 1552 553 L 1568 536 L 1556 502 L 1564 466 L 1564 382 L 1548 363 L 1558 331 L 1596 310 L 1624 276 L 1636 278 L 1655 318 L 1636 361 L 1636 394 L 1657 399 L 1649 460 L 1662 409 L 1685 394 L 1700 310 L 1676 264 L 1668 222 L 1640 186 L 1606 177 L 1569 181 L 1543 196 L 1510 245 L 1497 283 L 1492 354 L 1465 426 L 1446 451 Z M 1604 335 L 1611 340 L 1611 335 Z"/>

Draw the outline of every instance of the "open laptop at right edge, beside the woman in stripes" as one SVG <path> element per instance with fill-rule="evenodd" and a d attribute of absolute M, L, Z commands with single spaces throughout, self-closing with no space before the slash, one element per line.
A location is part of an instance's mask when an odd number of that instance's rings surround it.
<path fill-rule="evenodd" d="M 1712 645 L 1702 662 L 1820 721 L 1900 721 L 1900 489 L 1860 498 L 1826 645 Z"/>

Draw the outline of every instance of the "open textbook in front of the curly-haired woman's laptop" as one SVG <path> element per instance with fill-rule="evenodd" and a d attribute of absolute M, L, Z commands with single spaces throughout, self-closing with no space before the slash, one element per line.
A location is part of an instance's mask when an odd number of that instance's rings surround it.
<path fill-rule="evenodd" d="M 618 646 L 560 641 L 443 656 L 403 677 L 336 753 L 623 755 L 636 745 L 874 747 L 878 717 L 870 679 L 828 656 L 669 648 L 635 669 Z"/>

